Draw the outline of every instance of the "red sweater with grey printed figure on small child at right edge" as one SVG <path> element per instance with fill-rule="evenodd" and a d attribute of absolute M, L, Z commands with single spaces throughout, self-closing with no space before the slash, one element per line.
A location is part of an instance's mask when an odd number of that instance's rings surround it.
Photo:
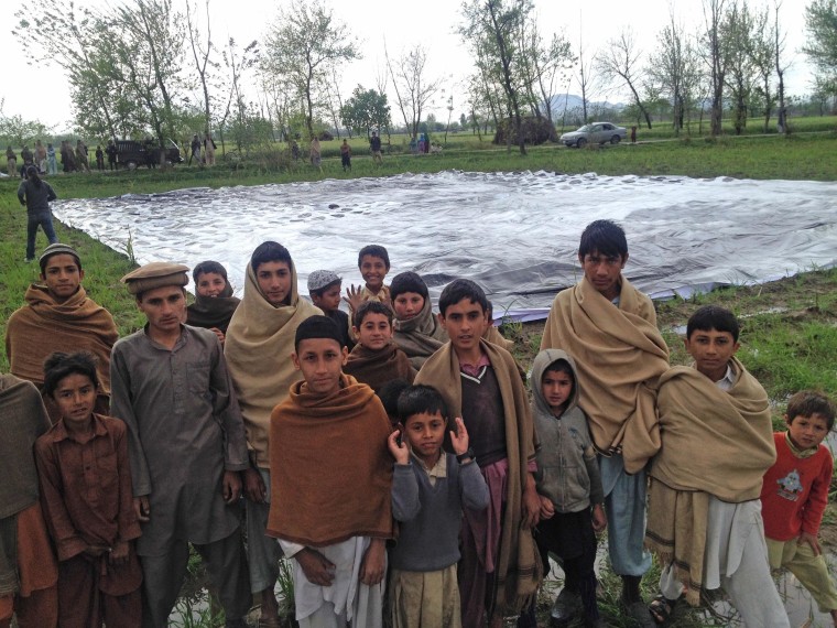
<path fill-rule="evenodd" d="M 834 462 L 825 445 L 807 458 L 796 457 L 784 432 L 773 434 L 776 462 L 764 474 L 761 508 L 764 535 L 790 541 L 802 532 L 816 535 L 828 504 Z"/>

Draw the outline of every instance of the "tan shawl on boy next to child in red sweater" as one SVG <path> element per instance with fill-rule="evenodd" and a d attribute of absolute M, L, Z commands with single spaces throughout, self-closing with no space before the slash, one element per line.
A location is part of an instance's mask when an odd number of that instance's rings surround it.
<path fill-rule="evenodd" d="M 645 542 L 663 564 L 674 560 L 692 604 L 703 584 L 709 496 L 758 499 L 776 457 L 768 396 L 737 358 L 731 367 L 729 391 L 694 368 L 673 367 L 660 378 L 663 446 L 650 472 Z"/>

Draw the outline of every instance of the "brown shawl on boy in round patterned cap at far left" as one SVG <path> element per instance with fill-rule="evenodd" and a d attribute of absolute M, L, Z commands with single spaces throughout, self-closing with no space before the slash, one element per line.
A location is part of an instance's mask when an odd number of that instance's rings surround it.
<path fill-rule="evenodd" d="M 100 392 L 110 394 L 110 349 L 119 338 L 110 313 L 87 297 L 79 285 L 73 296 L 57 303 L 45 285 L 33 283 L 26 290 L 26 305 L 9 317 L 6 355 L 10 370 L 41 386 L 44 360 L 53 351 L 87 350 L 96 356 Z"/>

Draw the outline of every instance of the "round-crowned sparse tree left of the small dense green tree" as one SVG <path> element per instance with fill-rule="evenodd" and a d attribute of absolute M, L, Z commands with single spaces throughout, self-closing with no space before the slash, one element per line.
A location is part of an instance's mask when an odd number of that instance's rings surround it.
<path fill-rule="evenodd" d="M 360 58 L 345 24 L 335 21 L 319 0 L 293 0 L 265 37 L 262 71 L 287 80 L 302 98 L 308 137 L 325 100 L 325 87 L 341 63 Z"/>

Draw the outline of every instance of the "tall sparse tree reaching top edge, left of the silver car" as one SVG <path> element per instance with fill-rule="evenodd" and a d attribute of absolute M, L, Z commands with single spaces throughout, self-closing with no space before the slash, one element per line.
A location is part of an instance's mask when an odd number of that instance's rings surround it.
<path fill-rule="evenodd" d="M 524 58 L 515 34 L 524 28 L 532 8 L 532 0 L 470 0 L 463 4 L 464 21 L 459 25 L 459 33 L 478 53 L 476 56 L 481 56 L 483 75 L 502 88 L 520 154 L 526 154 L 520 115 Z"/>

